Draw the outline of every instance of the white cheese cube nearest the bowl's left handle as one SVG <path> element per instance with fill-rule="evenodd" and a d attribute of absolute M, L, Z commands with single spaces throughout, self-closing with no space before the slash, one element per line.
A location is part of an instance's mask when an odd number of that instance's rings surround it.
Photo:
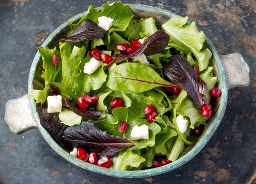
<path fill-rule="evenodd" d="M 47 103 L 48 103 L 47 112 L 48 113 L 61 112 L 61 108 L 62 108 L 61 100 L 62 100 L 62 97 L 60 95 L 48 96 L 47 97 Z"/>

